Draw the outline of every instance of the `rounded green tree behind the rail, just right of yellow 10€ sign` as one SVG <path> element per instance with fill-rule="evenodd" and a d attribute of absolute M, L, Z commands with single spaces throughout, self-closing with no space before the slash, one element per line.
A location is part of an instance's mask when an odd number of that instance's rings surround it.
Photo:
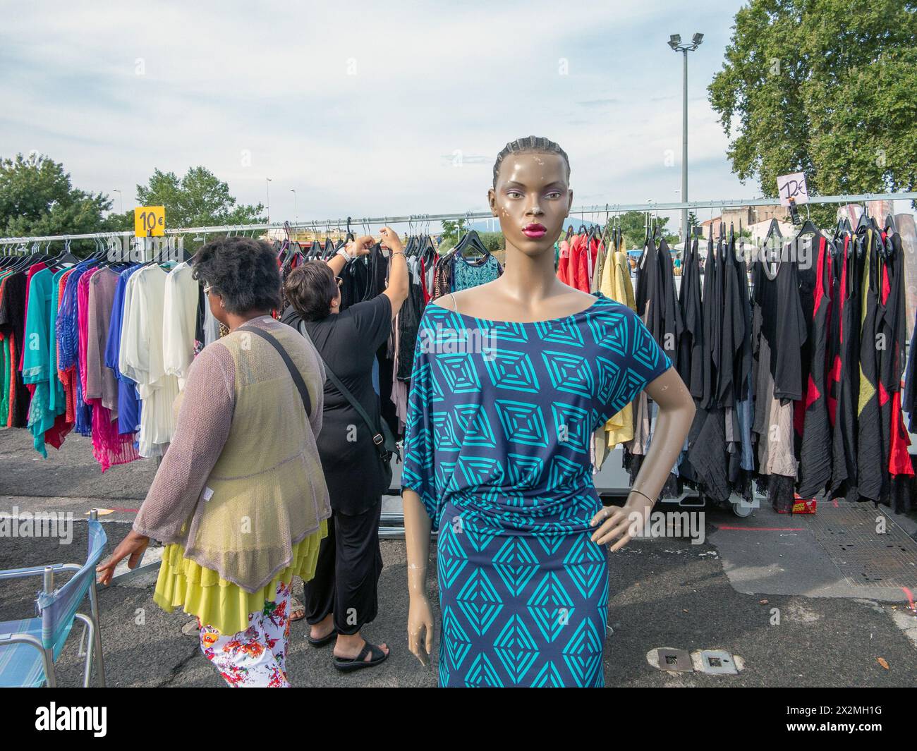
<path fill-rule="evenodd" d="M 267 221 L 263 204 L 236 205 L 229 185 L 205 167 L 192 167 L 180 180 L 174 172 L 156 170 L 146 185 L 137 186 L 141 206 L 165 206 L 166 226 L 260 224 Z M 131 226 L 133 226 L 133 212 Z"/>

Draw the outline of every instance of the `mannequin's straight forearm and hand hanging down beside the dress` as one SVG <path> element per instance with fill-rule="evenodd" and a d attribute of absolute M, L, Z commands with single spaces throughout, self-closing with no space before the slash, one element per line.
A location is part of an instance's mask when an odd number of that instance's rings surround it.
<path fill-rule="evenodd" d="M 420 496 L 402 490 L 404 540 L 407 547 L 407 587 L 410 604 L 407 617 L 408 648 L 422 665 L 429 664 L 433 649 L 433 609 L 426 596 L 426 569 L 430 558 L 430 517 Z"/>

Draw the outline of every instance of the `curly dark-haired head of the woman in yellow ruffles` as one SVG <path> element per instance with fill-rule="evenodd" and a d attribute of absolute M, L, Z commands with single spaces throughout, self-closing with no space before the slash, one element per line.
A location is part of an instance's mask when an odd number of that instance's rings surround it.
<path fill-rule="evenodd" d="M 271 246 L 251 237 L 220 237 L 194 254 L 193 276 L 204 283 L 210 312 L 224 326 L 270 315 L 281 306 L 281 275 Z"/>

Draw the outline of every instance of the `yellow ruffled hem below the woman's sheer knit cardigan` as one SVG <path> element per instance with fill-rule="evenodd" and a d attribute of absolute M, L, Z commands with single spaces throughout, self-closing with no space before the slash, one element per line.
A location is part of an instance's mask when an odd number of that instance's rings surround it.
<path fill-rule="evenodd" d="M 204 569 L 190 558 L 184 558 L 184 547 L 173 543 L 162 552 L 160 576 L 153 591 L 156 602 L 166 613 L 176 607 L 196 615 L 202 624 L 213 626 L 220 634 L 236 634 L 249 627 L 249 613 L 256 613 L 270 602 L 277 582 L 289 584 L 296 575 L 304 581 L 315 576 L 318 546 L 328 534 L 328 523 L 306 535 L 293 546 L 293 561 L 260 590 L 247 592 L 231 581 L 220 579 L 213 569 Z"/>

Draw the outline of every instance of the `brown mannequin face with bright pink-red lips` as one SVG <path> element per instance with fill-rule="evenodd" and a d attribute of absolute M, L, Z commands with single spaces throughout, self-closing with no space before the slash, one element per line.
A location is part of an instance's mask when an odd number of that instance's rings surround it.
<path fill-rule="evenodd" d="M 563 157 L 539 153 L 505 157 L 488 200 L 492 214 L 500 219 L 507 248 L 533 258 L 550 251 L 553 259 L 554 242 L 573 204 Z"/>

